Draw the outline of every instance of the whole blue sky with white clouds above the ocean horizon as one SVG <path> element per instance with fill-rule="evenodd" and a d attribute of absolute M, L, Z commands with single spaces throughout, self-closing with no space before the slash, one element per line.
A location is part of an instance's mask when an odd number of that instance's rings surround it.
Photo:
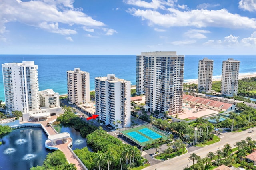
<path fill-rule="evenodd" d="M 1 0 L 0 54 L 256 54 L 256 0 Z"/>

